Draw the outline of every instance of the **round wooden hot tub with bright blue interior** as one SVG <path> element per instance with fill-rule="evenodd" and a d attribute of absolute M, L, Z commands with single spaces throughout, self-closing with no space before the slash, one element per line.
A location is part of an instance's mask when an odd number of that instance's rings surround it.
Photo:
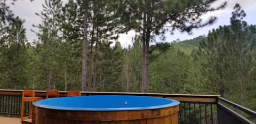
<path fill-rule="evenodd" d="M 32 123 L 178 124 L 180 102 L 145 96 L 51 98 L 33 105 Z"/>

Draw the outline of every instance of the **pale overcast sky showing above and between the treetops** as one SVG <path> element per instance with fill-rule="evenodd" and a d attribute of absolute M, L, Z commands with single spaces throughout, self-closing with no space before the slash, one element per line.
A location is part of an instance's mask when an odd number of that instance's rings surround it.
<path fill-rule="evenodd" d="M 66 0 L 67 1 L 67 0 Z M 66 2 L 63 1 L 63 2 Z M 214 3 L 214 5 L 220 5 L 223 3 L 223 0 L 218 0 Z M 206 26 L 201 29 L 193 30 L 192 35 L 188 35 L 186 32 L 180 33 L 179 31 L 175 31 L 174 35 L 170 35 L 170 33 L 166 33 L 166 40 L 161 41 L 157 40 L 157 42 L 172 42 L 173 40 L 180 39 L 191 39 L 200 35 L 207 35 L 209 30 L 213 28 L 218 28 L 220 25 L 228 25 L 230 23 L 231 12 L 233 11 L 233 7 L 236 3 L 239 3 L 242 9 L 246 13 L 246 18 L 244 19 L 248 24 L 256 24 L 256 0 L 227 0 L 228 5 L 225 9 L 220 10 L 218 12 L 207 13 L 203 16 L 203 18 L 209 18 L 209 16 L 217 16 L 218 20 L 211 26 Z M 34 0 L 34 2 L 30 2 L 29 0 L 20 0 L 15 2 L 15 5 L 11 5 L 11 10 L 16 16 L 20 16 L 20 18 L 25 20 L 24 27 L 26 28 L 26 35 L 29 42 L 33 42 L 34 39 L 37 39 L 34 32 L 30 30 L 36 30 L 32 27 L 32 24 L 41 23 L 41 18 L 35 15 L 35 12 L 40 13 L 42 11 L 42 4 L 44 4 L 43 0 Z M 127 47 L 129 44 L 132 44 L 132 37 L 135 36 L 134 31 L 130 31 L 128 34 L 121 34 L 119 37 L 119 42 L 123 47 Z"/>

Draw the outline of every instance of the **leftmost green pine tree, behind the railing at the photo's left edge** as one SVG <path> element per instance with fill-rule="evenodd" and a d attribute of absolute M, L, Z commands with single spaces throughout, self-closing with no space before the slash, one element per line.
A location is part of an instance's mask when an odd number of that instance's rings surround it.
<path fill-rule="evenodd" d="M 10 19 L 9 26 L 4 28 L 0 38 L 0 70 L 1 86 L 8 89 L 26 87 L 27 47 L 24 21 L 18 16 Z"/>

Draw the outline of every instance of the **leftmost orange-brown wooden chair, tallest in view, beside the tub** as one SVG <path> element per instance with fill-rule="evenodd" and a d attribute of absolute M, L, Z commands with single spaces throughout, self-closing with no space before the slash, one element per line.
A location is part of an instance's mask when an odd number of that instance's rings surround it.
<path fill-rule="evenodd" d="M 31 119 L 32 117 L 32 105 L 35 101 L 42 100 L 43 97 L 36 97 L 35 96 L 35 90 L 22 90 L 22 99 L 21 99 L 21 115 L 20 115 L 20 121 L 22 123 L 22 120 L 24 119 Z M 24 114 L 24 103 L 25 101 L 29 102 L 29 116 L 23 117 Z"/>

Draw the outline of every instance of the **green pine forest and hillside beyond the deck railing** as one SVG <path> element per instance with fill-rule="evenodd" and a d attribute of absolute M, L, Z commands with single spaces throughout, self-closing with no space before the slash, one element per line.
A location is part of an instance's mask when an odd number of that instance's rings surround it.
<path fill-rule="evenodd" d="M 230 14 L 229 26 L 213 29 L 207 36 L 149 45 L 151 37 L 164 33 L 159 32 L 163 24 L 157 25 L 163 20 L 151 23 L 154 33 L 147 34 L 148 25 L 139 23 L 146 19 L 140 16 L 135 21 L 139 13 L 131 14 L 136 9 L 126 13 L 132 16 L 128 23 L 128 17 L 122 16 L 125 11 L 111 6 L 120 3 L 109 2 L 46 1 L 44 10 L 36 13 L 42 22 L 34 24 L 39 30 L 34 31 L 38 36 L 34 43 L 26 38 L 24 21 L 8 7 L 0 8 L 0 89 L 211 94 L 256 110 L 256 26 L 243 21 L 246 14 L 239 4 Z M 194 4 L 198 3 L 188 5 Z M 210 11 L 207 5 L 203 9 Z M 183 9 L 180 6 L 177 13 L 187 19 Z M 124 13 L 109 14 L 117 11 Z M 174 27 L 189 32 L 200 26 Z M 131 29 L 139 33 L 131 39 L 132 45 L 123 48 L 116 34 Z"/>

